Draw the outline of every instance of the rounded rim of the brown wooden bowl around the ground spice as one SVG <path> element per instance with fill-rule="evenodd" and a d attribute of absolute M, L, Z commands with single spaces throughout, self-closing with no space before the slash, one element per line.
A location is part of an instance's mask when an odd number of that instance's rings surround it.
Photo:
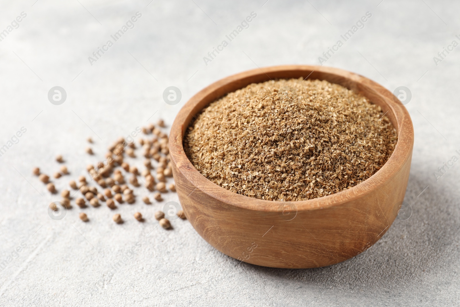
<path fill-rule="evenodd" d="M 398 134 L 398 140 L 395 149 L 391 154 L 390 158 L 385 162 L 384 166 L 380 168 L 377 172 L 375 172 L 375 174 L 373 174 L 368 179 L 347 190 L 333 193 L 323 197 L 317 197 L 302 201 L 271 201 L 237 194 L 213 183 L 211 180 L 208 180 L 205 176 L 198 172 L 198 170 L 192 165 L 188 157 L 185 155 L 183 147 L 183 137 L 186 128 L 189 126 L 192 117 L 195 117 L 194 115 L 198 114 L 202 110 L 202 108 L 197 108 L 198 104 L 200 104 L 201 101 L 203 101 L 203 99 L 208 100 L 210 99 L 209 97 L 215 96 L 215 98 L 211 99 L 207 103 L 209 104 L 215 99 L 222 97 L 225 93 L 232 92 L 226 91 L 224 94 L 216 94 L 216 92 L 222 91 L 224 87 L 229 86 L 230 84 L 233 87 L 235 87 L 237 84 L 240 84 L 241 87 L 238 88 L 243 88 L 246 87 L 248 84 L 254 83 L 249 82 L 246 84 L 242 82 L 245 79 L 253 77 L 259 77 L 263 79 L 264 75 L 265 77 L 268 77 L 268 79 L 265 81 L 271 79 L 270 75 L 277 79 L 283 79 L 283 77 L 276 77 L 276 75 L 282 75 L 288 72 L 310 72 L 310 75 L 312 75 L 312 77 L 309 78 L 309 75 L 305 79 L 319 79 L 313 78 L 316 75 L 328 77 L 336 76 L 338 78 L 351 81 L 350 84 L 353 84 L 355 86 L 359 85 L 360 87 L 365 88 L 367 91 L 371 91 L 374 95 L 377 95 L 377 97 L 382 99 L 382 101 L 384 101 L 386 106 L 388 107 L 389 113 L 392 113 L 393 117 L 390 119 L 392 119 L 391 122 L 393 123 L 393 126 L 395 126 Z M 314 72 L 316 72 L 316 74 L 313 75 Z M 328 79 L 323 78 L 320 80 Z M 333 81 L 329 82 L 334 83 Z M 366 97 L 366 95 L 364 96 Z M 388 114 L 390 117 L 391 113 Z M 395 125 L 395 122 L 397 123 L 397 125 Z M 194 96 L 192 96 L 179 110 L 171 127 L 171 132 L 169 136 L 169 150 L 171 161 L 177 167 L 178 172 L 180 172 L 186 180 L 188 180 L 192 185 L 194 185 L 196 189 L 199 188 L 202 192 L 206 193 L 208 196 L 213 197 L 216 200 L 219 200 L 220 202 L 227 203 L 229 205 L 233 205 L 242 209 L 265 212 L 281 212 L 285 209 L 286 205 L 290 206 L 291 208 L 295 207 L 297 211 L 325 209 L 328 207 L 337 206 L 362 198 L 363 196 L 372 193 L 376 189 L 381 190 L 380 185 L 384 184 L 387 180 L 391 180 L 392 177 L 397 172 L 399 172 L 401 168 L 403 168 L 405 162 L 407 162 L 407 160 L 411 158 L 413 144 L 414 128 L 409 113 L 407 109 L 403 106 L 403 104 L 401 104 L 401 102 L 393 95 L 393 93 L 391 93 L 389 90 L 387 90 L 380 84 L 362 75 L 358 75 L 356 73 L 333 67 L 315 65 L 270 66 L 254 70 L 243 71 L 220 79 L 219 81 L 213 82 L 212 84 L 208 85 L 207 87 L 203 88 L 201 91 L 196 93 Z M 190 192 L 189 196 L 192 193 L 193 191 Z"/>

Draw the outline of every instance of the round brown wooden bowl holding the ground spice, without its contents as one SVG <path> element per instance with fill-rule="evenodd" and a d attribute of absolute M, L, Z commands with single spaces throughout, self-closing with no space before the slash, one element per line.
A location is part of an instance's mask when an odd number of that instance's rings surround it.
<path fill-rule="evenodd" d="M 307 77 L 340 84 L 381 106 L 398 133 L 390 159 L 351 189 L 306 201 L 247 197 L 214 184 L 183 148 L 194 115 L 226 93 L 270 79 Z M 404 199 L 414 128 L 408 111 L 387 89 L 361 75 L 322 66 L 276 66 L 245 71 L 204 88 L 179 111 L 169 150 L 179 200 L 190 223 L 225 255 L 259 266 L 328 266 L 358 255 L 391 226 Z"/>

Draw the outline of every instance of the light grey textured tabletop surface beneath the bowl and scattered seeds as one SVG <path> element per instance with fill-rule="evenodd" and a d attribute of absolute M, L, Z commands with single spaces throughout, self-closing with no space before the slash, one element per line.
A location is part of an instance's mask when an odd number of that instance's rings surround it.
<path fill-rule="evenodd" d="M 0 146 L 21 127 L 27 132 L 0 157 L 0 260 L 21 243 L 27 246 L 0 272 L 0 305 L 458 304 L 460 168 L 452 156 L 460 157 L 460 58 L 456 49 L 442 58 L 437 52 L 459 42 L 460 4 L 80 2 L 1 5 L 1 31 L 21 12 L 27 17 L 0 41 Z M 142 17 L 135 27 L 91 66 L 92 52 L 138 11 Z M 251 12 L 257 17 L 249 28 L 206 65 L 207 52 Z M 365 75 L 391 91 L 410 88 L 406 106 L 415 130 L 406 193 L 412 215 L 396 220 L 366 254 L 313 270 L 271 269 L 238 265 L 203 242 L 186 220 L 173 221 L 173 231 L 155 228 L 158 204 L 120 209 L 122 215 L 141 211 L 143 224 L 131 219 L 115 225 L 103 207 L 88 210 L 87 224 L 78 220 L 77 208 L 60 221 L 48 216 L 47 204 L 55 199 L 31 174 L 33 166 L 51 173 L 57 168 L 52 158 L 61 153 L 72 175 L 84 174 L 93 162 L 83 151 L 87 136 L 102 156 L 109 142 L 155 111 L 152 120 L 163 117 L 170 124 L 190 96 L 226 75 L 257 66 L 318 64 L 322 52 L 366 12 L 372 17 L 364 27 L 323 64 Z M 167 105 L 162 93 L 172 85 L 180 88 L 182 100 Z M 67 92 L 62 105 L 47 99 L 54 86 Z M 435 176 L 443 162 L 452 166 Z M 66 179 L 57 181 L 58 189 Z M 112 267 L 123 259 L 122 266 Z"/>

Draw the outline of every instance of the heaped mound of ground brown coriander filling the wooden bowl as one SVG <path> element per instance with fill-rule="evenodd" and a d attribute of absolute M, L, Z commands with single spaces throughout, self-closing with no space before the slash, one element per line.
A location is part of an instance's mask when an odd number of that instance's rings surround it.
<path fill-rule="evenodd" d="M 227 190 L 299 201 L 368 179 L 396 143 L 380 106 L 338 84 L 299 78 L 254 83 L 209 104 L 188 127 L 184 150 Z"/>

